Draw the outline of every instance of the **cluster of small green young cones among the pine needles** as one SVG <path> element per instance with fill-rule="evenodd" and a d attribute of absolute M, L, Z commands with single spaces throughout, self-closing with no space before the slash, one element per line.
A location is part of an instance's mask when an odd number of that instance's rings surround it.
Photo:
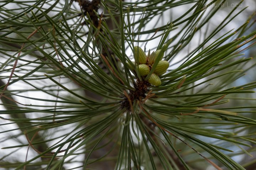
<path fill-rule="evenodd" d="M 138 61 L 139 63 L 139 74 L 142 77 L 145 77 L 149 74 L 151 68 L 154 66 L 154 62 L 156 58 L 158 57 L 161 50 L 156 50 L 155 52 L 149 53 L 148 56 L 146 56 L 146 53 L 139 47 L 134 47 L 134 58 L 135 61 Z M 169 67 L 169 62 L 162 60 L 164 57 L 164 54 L 160 57 L 160 60 L 154 70 L 154 72 L 150 75 L 148 82 L 151 85 L 154 86 L 160 86 L 161 80 L 159 78 L 159 75 L 162 75 L 166 73 L 167 68 Z M 135 64 L 135 63 L 134 63 Z M 130 66 L 130 64 L 128 64 Z M 133 69 L 132 66 L 130 68 Z"/>

